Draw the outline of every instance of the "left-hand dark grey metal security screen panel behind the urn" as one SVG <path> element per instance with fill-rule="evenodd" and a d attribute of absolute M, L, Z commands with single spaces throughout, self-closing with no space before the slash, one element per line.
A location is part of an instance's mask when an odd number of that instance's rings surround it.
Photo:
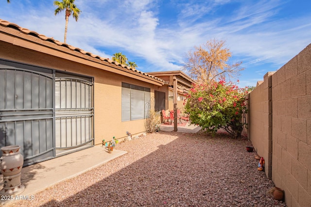
<path fill-rule="evenodd" d="M 0 147 L 15 144 L 24 165 L 54 156 L 52 70 L 0 67 Z"/>

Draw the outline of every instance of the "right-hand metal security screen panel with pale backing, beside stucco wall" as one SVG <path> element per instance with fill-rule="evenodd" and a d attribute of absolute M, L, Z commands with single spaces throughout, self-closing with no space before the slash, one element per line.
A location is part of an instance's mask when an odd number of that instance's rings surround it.
<path fill-rule="evenodd" d="M 55 79 L 56 155 L 93 144 L 93 83 L 75 77 Z"/>

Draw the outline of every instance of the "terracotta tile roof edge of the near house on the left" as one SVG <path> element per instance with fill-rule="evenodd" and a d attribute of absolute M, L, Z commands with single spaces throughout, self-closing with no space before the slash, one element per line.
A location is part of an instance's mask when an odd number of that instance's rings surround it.
<path fill-rule="evenodd" d="M 22 28 L 22 27 L 18 26 L 17 24 L 14 24 L 14 23 L 5 21 L 5 20 L 3 20 L 3 19 L 0 19 L 0 26 L 2 26 L 2 27 L 13 28 L 13 29 L 15 29 L 15 30 L 18 30 L 18 31 L 24 33 L 24 34 L 32 35 L 32 36 L 35 36 L 35 37 L 37 37 L 37 38 L 40 38 L 41 40 L 54 43 L 56 47 L 69 48 L 69 49 L 72 50 L 72 51 L 80 52 L 80 53 L 82 53 L 82 54 L 84 54 L 84 55 L 87 55 L 87 56 L 90 56 L 90 57 L 99 59 L 99 60 L 101 60 L 101 61 L 108 62 L 109 64 L 115 64 L 115 65 L 117 65 L 117 66 L 121 66 L 122 68 L 125 68 L 125 69 L 127 69 L 127 70 L 134 71 L 134 72 L 136 72 L 136 73 L 142 74 L 142 75 L 147 76 L 147 77 L 149 77 L 149 78 L 151 78 L 151 79 L 155 79 L 157 82 L 162 82 L 162 84 L 164 84 L 164 80 L 159 79 L 159 78 L 157 78 L 157 77 L 155 77 L 155 76 L 149 75 L 148 73 L 144 73 L 144 72 L 139 71 L 139 70 L 137 70 L 137 69 L 135 69 L 135 68 L 131 68 L 131 67 L 127 66 L 127 65 L 123 65 L 123 64 L 120 64 L 120 63 L 118 63 L 118 62 L 112 61 L 112 60 L 110 60 L 109 58 L 100 57 L 99 55 L 95 55 L 95 54 L 93 54 L 93 53 L 91 53 L 91 52 L 87 52 L 87 51 L 85 51 L 85 50 L 83 50 L 83 49 L 81 49 L 81 48 L 76 48 L 76 47 L 74 47 L 74 46 L 68 45 L 67 43 L 63 43 L 63 42 L 60 42 L 60 41 L 58 41 L 58 40 L 55 40 L 55 39 L 53 39 L 52 37 L 47 37 L 47 36 L 45 36 L 45 35 L 43 35 L 43 34 L 39 34 L 39 33 L 35 32 L 35 31 L 31 31 L 31 30 L 28 30 L 28 29 L 26 29 L 26 28 Z"/>

